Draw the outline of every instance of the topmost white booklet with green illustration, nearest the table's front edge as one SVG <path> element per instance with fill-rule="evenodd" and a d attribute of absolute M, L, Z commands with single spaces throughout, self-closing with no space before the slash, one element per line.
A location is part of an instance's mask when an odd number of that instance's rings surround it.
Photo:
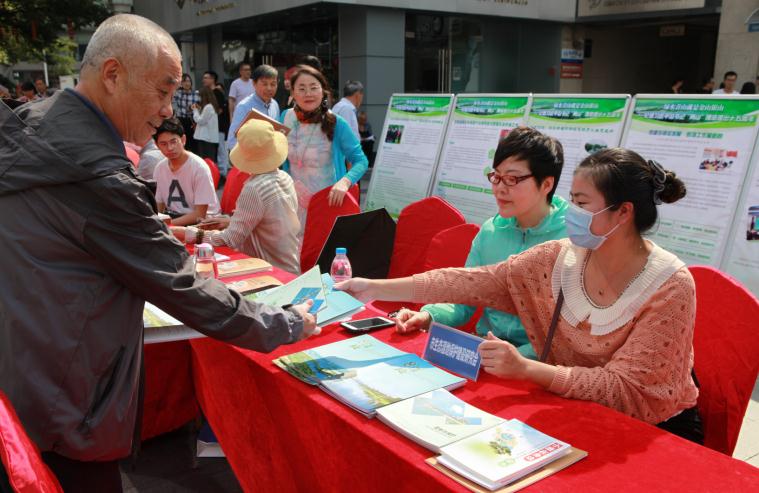
<path fill-rule="evenodd" d="M 512 419 L 441 448 L 438 462 L 495 490 L 571 451 L 569 444 Z"/>

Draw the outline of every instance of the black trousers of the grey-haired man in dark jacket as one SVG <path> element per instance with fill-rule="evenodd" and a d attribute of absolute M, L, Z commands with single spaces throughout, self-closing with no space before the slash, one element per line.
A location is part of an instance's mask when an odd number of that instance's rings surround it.
<path fill-rule="evenodd" d="M 42 452 L 42 460 L 53 471 L 66 493 L 121 493 L 121 470 L 118 461 L 82 462 Z"/>

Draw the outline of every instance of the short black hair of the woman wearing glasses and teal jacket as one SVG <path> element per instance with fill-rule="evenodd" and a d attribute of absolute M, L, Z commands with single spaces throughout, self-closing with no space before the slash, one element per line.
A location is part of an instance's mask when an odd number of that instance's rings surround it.
<path fill-rule="evenodd" d="M 493 169 L 512 156 L 527 161 L 530 173 L 538 185 L 553 176 L 553 188 L 546 196 L 550 204 L 559 185 L 561 168 L 564 167 L 564 148 L 561 143 L 534 128 L 518 127 L 498 143 L 493 157 Z"/>

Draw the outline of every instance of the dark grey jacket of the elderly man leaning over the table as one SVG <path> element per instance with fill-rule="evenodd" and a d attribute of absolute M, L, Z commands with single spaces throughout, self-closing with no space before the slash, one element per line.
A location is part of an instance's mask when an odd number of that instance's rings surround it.
<path fill-rule="evenodd" d="M 42 450 L 130 451 L 144 300 L 257 351 L 297 340 L 291 311 L 201 281 L 105 116 L 71 90 L 0 105 L 0 389 Z"/>

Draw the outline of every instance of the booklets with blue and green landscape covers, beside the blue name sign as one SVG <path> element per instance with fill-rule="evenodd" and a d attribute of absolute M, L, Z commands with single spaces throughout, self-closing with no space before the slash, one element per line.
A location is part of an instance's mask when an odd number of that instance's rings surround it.
<path fill-rule="evenodd" d="M 466 382 L 370 335 L 282 356 L 274 364 L 367 417 L 394 402 Z"/>

